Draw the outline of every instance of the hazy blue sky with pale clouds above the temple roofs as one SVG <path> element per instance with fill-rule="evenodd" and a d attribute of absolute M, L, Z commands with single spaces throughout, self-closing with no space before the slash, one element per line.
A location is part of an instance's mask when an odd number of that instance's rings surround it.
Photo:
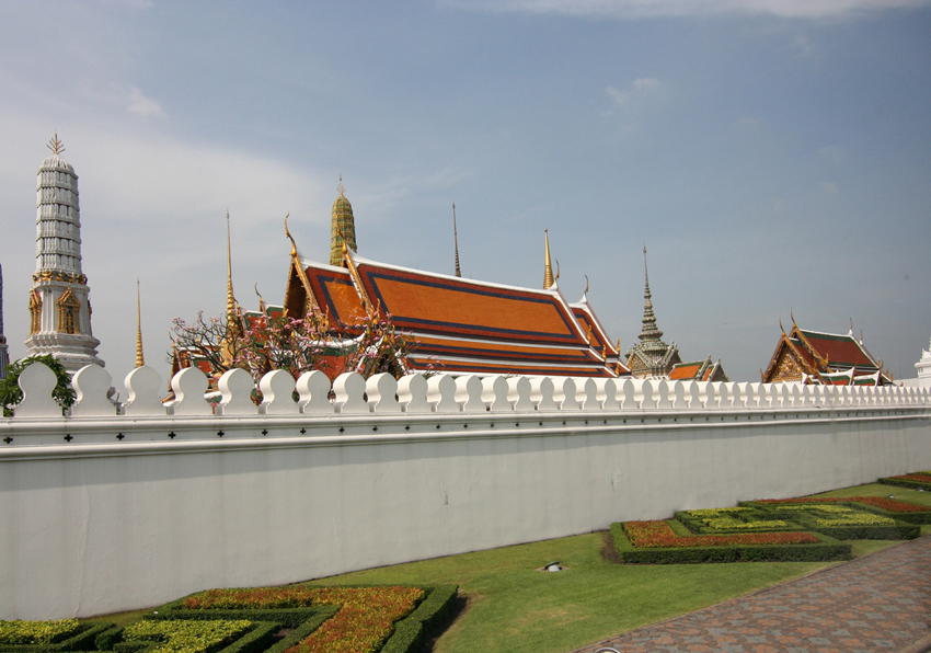
<path fill-rule="evenodd" d="M 896 378 L 931 337 L 931 3 L 480 0 L 0 3 L 0 265 L 24 355 L 35 172 L 80 181 L 100 355 L 163 377 L 174 317 L 243 306 L 290 245 L 326 261 L 340 175 L 358 253 L 643 314 L 758 380 L 790 311 L 862 329 Z"/>

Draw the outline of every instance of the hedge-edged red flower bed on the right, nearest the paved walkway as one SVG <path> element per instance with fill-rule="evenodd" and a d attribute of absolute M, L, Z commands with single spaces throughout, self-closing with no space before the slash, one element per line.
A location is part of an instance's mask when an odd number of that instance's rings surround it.
<path fill-rule="evenodd" d="M 677 520 L 612 524 L 614 548 L 624 562 L 688 563 L 762 560 L 839 560 L 850 546 L 812 532 L 692 535 Z"/>

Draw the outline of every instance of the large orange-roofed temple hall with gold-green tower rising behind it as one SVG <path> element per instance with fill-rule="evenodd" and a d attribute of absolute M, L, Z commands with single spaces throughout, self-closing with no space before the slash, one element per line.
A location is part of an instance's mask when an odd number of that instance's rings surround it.
<path fill-rule="evenodd" d="M 413 370 L 583 377 L 629 373 L 587 291 L 574 303 L 560 291 L 548 237 L 542 289 L 378 263 L 354 254 L 355 249 L 352 205 L 341 181 L 332 211 L 330 263 L 303 259 L 292 247 L 287 314 L 319 309 L 331 323 L 349 331 L 365 314 L 390 317 L 417 343 L 407 358 Z M 458 263 L 458 250 L 456 254 Z"/>

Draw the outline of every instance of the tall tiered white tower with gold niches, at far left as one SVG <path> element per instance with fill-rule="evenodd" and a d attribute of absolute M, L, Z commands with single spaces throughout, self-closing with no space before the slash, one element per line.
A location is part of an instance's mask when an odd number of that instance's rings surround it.
<path fill-rule="evenodd" d="M 101 365 L 91 332 L 88 277 L 81 272 L 78 175 L 59 154 L 58 135 L 37 180 L 36 271 L 30 290 L 28 356 L 51 354 L 69 371 Z"/>

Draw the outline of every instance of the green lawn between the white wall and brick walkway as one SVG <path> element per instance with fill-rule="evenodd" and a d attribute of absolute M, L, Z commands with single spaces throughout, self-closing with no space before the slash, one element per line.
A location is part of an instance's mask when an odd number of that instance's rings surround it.
<path fill-rule="evenodd" d="M 870 484 L 825 496 L 888 496 L 931 506 L 931 493 Z M 922 527 L 922 535 L 931 526 Z M 714 605 L 829 566 L 830 562 L 622 565 L 601 555 L 604 534 L 478 551 L 333 576 L 315 583 L 456 583 L 464 615 L 437 653 L 565 653 L 646 623 Z M 854 555 L 894 546 L 853 542 Z M 568 570 L 535 571 L 559 561 Z"/>

